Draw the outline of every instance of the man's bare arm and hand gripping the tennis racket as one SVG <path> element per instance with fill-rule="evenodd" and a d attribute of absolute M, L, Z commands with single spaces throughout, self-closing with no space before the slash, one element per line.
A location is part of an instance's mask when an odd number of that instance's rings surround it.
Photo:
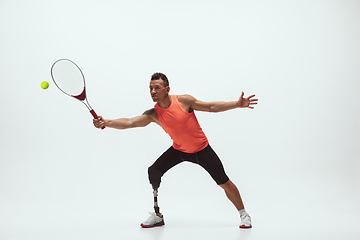
<path fill-rule="evenodd" d="M 101 128 L 102 126 L 116 128 L 116 129 L 128 129 L 135 127 L 145 127 L 154 121 L 154 112 L 151 110 L 145 111 L 143 115 L 133 117 L 133 118 L 119 118 L 114 120 L 104 119 L 102 116 L 99 116 L 98 119 L 93 119 L 94 126 L 96 128 Z"/>

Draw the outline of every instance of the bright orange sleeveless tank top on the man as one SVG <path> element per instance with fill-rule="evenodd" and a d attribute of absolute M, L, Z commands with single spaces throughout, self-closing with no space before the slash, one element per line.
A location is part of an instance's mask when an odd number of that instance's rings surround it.
<path fill-rule="evenodd" d="M 173 140 L 173 147 L 186 153 L 203 150 L 209 142 L 196 119 L 194 111 L 186 112 L 176 95 L 170 95 L 170 99 L 171 104 L 168 108 L 163 109 L 156 103 L 155 109 L 161 127 Z"/>

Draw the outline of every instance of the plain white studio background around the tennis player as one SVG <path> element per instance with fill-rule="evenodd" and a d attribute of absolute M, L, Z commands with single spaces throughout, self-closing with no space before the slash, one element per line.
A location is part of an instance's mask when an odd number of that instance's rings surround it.
<path fill-rule="evenodd" d="M 0 0 L 0 239 L 359 239 L 359 42 L 355 0 Z M 255 110 L 197 113 L 254 228 L 184 163 L 160 188 L 167 225 L 140 229 L 171 140 L 95 129 L 52 83 L 59 58 L 105 118 L 151 108 L 157 71 L 172 94 L 256 94 Z"/>

